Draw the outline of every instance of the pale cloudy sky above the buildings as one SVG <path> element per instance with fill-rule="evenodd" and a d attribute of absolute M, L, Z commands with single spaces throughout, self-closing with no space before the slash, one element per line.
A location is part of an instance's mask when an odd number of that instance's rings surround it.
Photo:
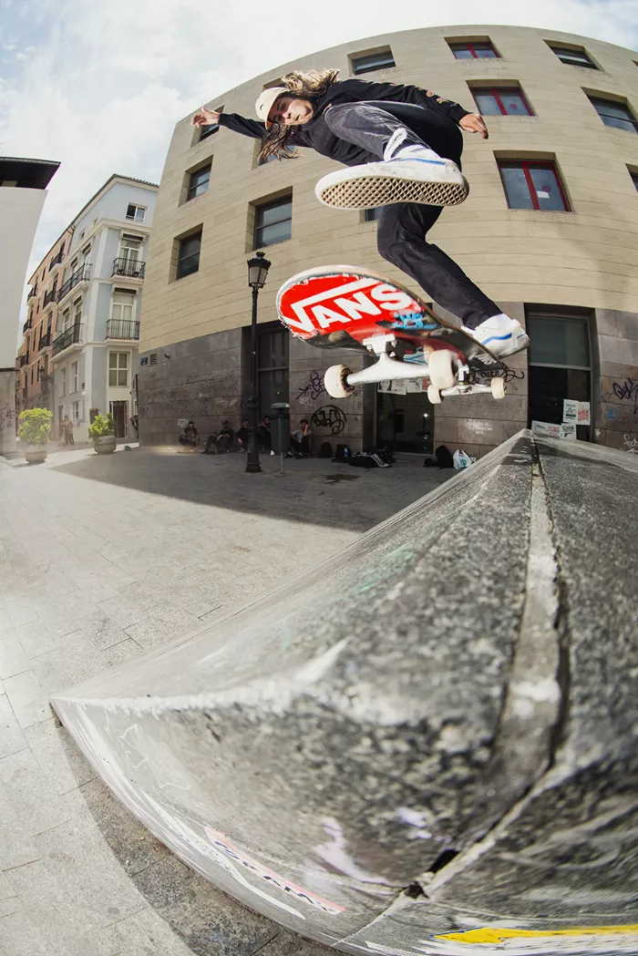
<path fill-rule="evenodd" d="M 0 0 L 0 155 L 60 163 L 27 276 L 112 173 L 159 183 L 203 102 L 359 37 L 474 23 L 638 48 L 637 0 Z"/>

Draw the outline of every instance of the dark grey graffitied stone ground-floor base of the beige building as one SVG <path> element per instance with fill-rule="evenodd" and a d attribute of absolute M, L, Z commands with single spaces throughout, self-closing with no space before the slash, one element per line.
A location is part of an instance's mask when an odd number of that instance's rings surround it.
<path fill-rule="evenodd" d="M 332 399 L 323 387 L 326 368 L 343 362 L 356 370 L 372 359 L 322 351 L 270 323 L 259 326 L 259 414 L 272 414 L 273 401 L 289 402 L 293 429 L 299 419 L 308 419 L 314 451 L 324 442 L 333 453 L 340 444 L 354 451 L 389 445 L 420 454 L 448 445 L 478 458 L 535 420 L 561 422 L 563 400 L 573 399 L 589 404 L 589 422 L 578 426 L 579 439 L 637 451 L 638 315 L 520 302 L 500 306 L 527 321 L 533 340 L 529 352 L 507 360 L 507 394 L 500 402 L 486 394 L 432 406 L 425 391 L 402 395 L 376 385 L 364 386 L 351 399 Z M 249 328 L 166 345 L 141 353 L 140 361 L 144 445 L 176 444 L 189 419 L 206 440 L 222 419 L 236 430 L 248 417 Z"/>

